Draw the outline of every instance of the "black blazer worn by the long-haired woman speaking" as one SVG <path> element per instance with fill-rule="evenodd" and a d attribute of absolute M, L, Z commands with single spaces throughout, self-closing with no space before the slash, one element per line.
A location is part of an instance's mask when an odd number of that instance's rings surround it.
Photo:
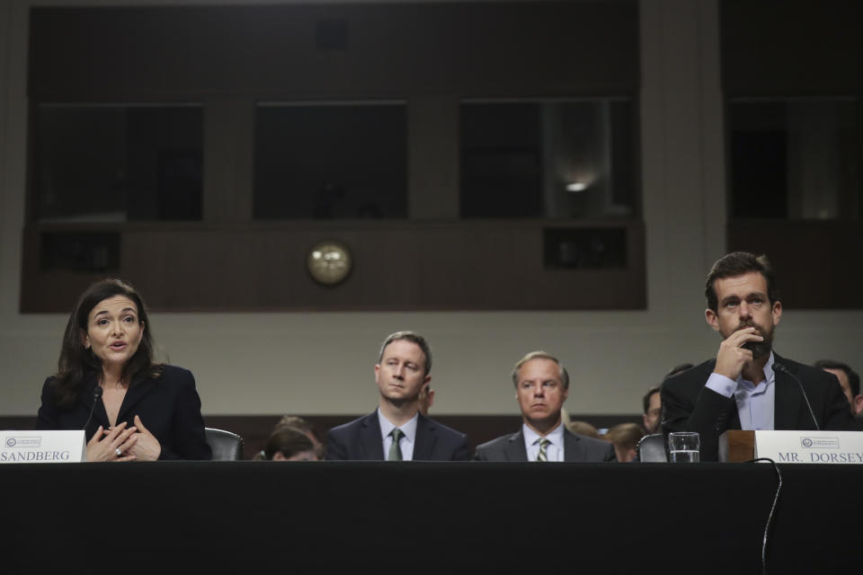
<path fill-rule="evenodd" d="M 68 409 L 58 409 L 54 403 L 54 377 L 42 386 L 37 429 L 83 429 L 93 407 L 95 375 L 88 377 L 81 394 Z M 159 459 L 209 459 L 211 456 L 204 437 L 204 420 L 200 415 L 200 397 L 195 391 L 195 378 L 182 367 L 164 366 L 158 377 L 134 380 L 120 405 L 117 423 L 126 421 L 131 427 L 135 416 L 162 446 Z M 87 440 L 99 426 L 108 429 L 108 413 L 104 403 L 97 402 L 93 418 L 85 429 Z"/>

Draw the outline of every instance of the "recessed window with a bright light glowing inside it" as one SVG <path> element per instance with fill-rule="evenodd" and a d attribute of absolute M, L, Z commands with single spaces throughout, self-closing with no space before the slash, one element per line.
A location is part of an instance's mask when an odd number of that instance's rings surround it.
<path fill-rule="evenodd" d="M 636 129 L 627 98 L 461 105 L 461 216 L 636 215 Z"/>

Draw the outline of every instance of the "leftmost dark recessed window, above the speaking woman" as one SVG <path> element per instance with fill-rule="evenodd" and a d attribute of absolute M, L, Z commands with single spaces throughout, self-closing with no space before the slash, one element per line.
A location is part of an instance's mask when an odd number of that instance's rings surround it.
<path fill-rule="evenodd" d="M 33 126 L 36 221 L 200 220 L 200 105 L 44 103 Z"/>

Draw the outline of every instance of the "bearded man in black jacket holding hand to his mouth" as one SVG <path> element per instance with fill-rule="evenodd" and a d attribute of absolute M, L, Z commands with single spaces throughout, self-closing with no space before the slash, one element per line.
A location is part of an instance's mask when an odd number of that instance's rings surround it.
<path fill-rule="evenodd" d="M 705 295 L 705 318 L 723 341 L 715 359 L 663 382 L 666 435 L 698 431 L 701 461 L 716 461 L 726 429 L 853 429 L 835 377 L 773 351 L 782 303 L 765 256 L 734 252 L 716 261 Z"/>

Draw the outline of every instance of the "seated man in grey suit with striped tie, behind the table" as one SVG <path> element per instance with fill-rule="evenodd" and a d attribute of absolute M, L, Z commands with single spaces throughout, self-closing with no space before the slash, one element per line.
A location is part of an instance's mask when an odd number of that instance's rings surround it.
<path fill-rule="evenodd" d="M 566 429 L 560 410 L 569 374 L 554 356 L 532 351 L 512 370 L 521 429 L 476 447 L 479 461 L 615 461 L 614 446 Z"/>

